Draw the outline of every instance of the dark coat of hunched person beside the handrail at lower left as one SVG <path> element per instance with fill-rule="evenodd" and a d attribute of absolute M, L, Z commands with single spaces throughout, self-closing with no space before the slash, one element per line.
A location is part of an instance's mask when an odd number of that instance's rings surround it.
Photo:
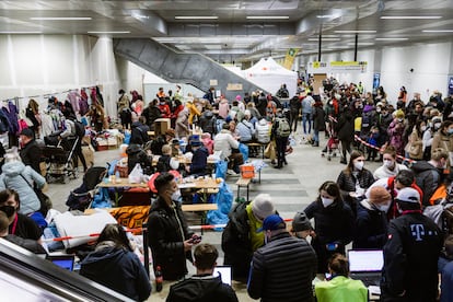
<path fill-rule="evenodd" d="M 80 275 L 136 301 L 151 294 L 151 283 L 138 256 L 114 246 L 100 246 L 82 262 Z"/>

